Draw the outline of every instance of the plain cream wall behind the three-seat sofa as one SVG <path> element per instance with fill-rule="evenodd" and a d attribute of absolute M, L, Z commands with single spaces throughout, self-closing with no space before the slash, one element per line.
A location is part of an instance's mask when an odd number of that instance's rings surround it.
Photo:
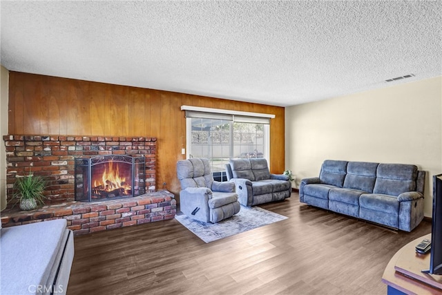
<path fill-rule="evenodd" d="M 427 172 L 425 216 L 432 215 L 432 175 L 442 173 L 442 77 L 287 107 L 286 169 L 318 176 L 326 159 L 416 164 Z"/>

